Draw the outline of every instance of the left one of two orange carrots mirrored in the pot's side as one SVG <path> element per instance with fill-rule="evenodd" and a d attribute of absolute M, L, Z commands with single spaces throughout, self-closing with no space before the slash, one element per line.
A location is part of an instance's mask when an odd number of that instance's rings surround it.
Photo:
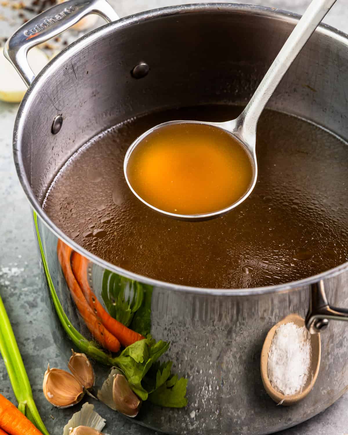
<path fill-rule="evenodd" d="M 75 305 L 94 338 L 99 341 L 105 349 L 108 349 L 111 352 L 118 352 L 120 350 L 120 342 L 101 324 L 92 308 L 88 305 L 86 298 L 74 277 L 70 263 L 72 252 L 72 248 L 63 241 L 58 240 L 58 259 Z"/>

